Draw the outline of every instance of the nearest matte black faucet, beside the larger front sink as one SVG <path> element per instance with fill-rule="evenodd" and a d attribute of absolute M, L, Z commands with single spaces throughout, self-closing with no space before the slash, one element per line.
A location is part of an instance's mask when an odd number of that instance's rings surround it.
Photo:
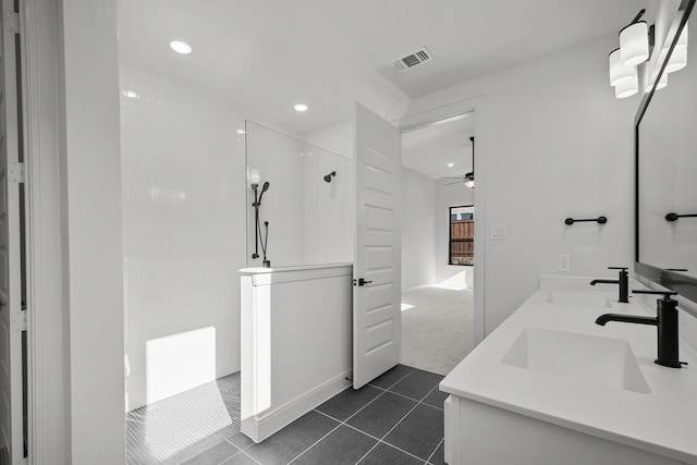
<path fill-rule="evenodd" d="M 606 326 L 608 321 L 622 321 L 627 323 L 653 325 L 658 328 L 658 358 L 656 363 L 664 367 L 681 368 L 683 363 L 678 359 L 677 348 L 677 301 L 673 301 L 671 295 L 676 292 L 671 291 L 638 291 L 635 294 L 659 294 L 663 298 L 656 301 L 658 308 L 656 317 L 639 317 L 635 315 L 604 314 L 596 320 L 596 325 Z"/>

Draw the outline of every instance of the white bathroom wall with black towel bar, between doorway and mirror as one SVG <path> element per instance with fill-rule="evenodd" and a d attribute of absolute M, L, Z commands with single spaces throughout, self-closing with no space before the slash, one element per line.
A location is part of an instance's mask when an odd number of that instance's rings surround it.
<path fill-rule="evenodd" d="M 390 119 L 485 96 L 486 159 L 477 159 L 477 205 L 486 230 L 508 224 L 506 241 L 487 238 L 485 332 L 491 332 L 572 256 L 572 272 L 611 276 L 633 262 L 633 119 L 637 99 L 617 100 L 608 84 L 616 36 L 394 106 Z M 480 143 L 478 142 L 478 146 Z M 564 224 L 604 215 L 604 225 Z M 481 254 L 481 250 L 479 250 Z M 479 287 L 480 283 L 475 283 Z"/>

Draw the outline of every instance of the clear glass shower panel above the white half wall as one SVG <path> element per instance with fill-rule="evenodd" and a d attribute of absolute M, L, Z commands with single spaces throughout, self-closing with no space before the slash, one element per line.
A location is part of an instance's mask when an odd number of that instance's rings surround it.
<path fill-rule="evenodd" d="M 353 160 L 252 121 L 245 145 L 247 266 L 351 262 Z"/>

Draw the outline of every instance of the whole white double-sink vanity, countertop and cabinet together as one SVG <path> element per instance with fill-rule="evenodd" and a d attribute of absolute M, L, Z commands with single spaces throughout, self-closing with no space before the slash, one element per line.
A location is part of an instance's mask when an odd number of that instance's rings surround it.
<path fill-rule="evenodd" d="M 653 363 L 656 327 L 596 325 L 656 315 L 656 299 L 620 304 L 612 287 L 588 290 L 591 279 L 542 277 L 441 381 L 448 464 L 697 464 L 694 348 L 681 340 L 688 365 L 667 368 Z"/>

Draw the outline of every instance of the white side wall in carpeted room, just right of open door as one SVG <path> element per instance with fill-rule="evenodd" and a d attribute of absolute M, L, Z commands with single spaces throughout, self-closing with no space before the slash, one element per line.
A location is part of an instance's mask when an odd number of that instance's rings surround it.
<path fill-rule="evenodd" d="M 402 168 L 402 289 L 436 281 L 436 181 Z"/>

